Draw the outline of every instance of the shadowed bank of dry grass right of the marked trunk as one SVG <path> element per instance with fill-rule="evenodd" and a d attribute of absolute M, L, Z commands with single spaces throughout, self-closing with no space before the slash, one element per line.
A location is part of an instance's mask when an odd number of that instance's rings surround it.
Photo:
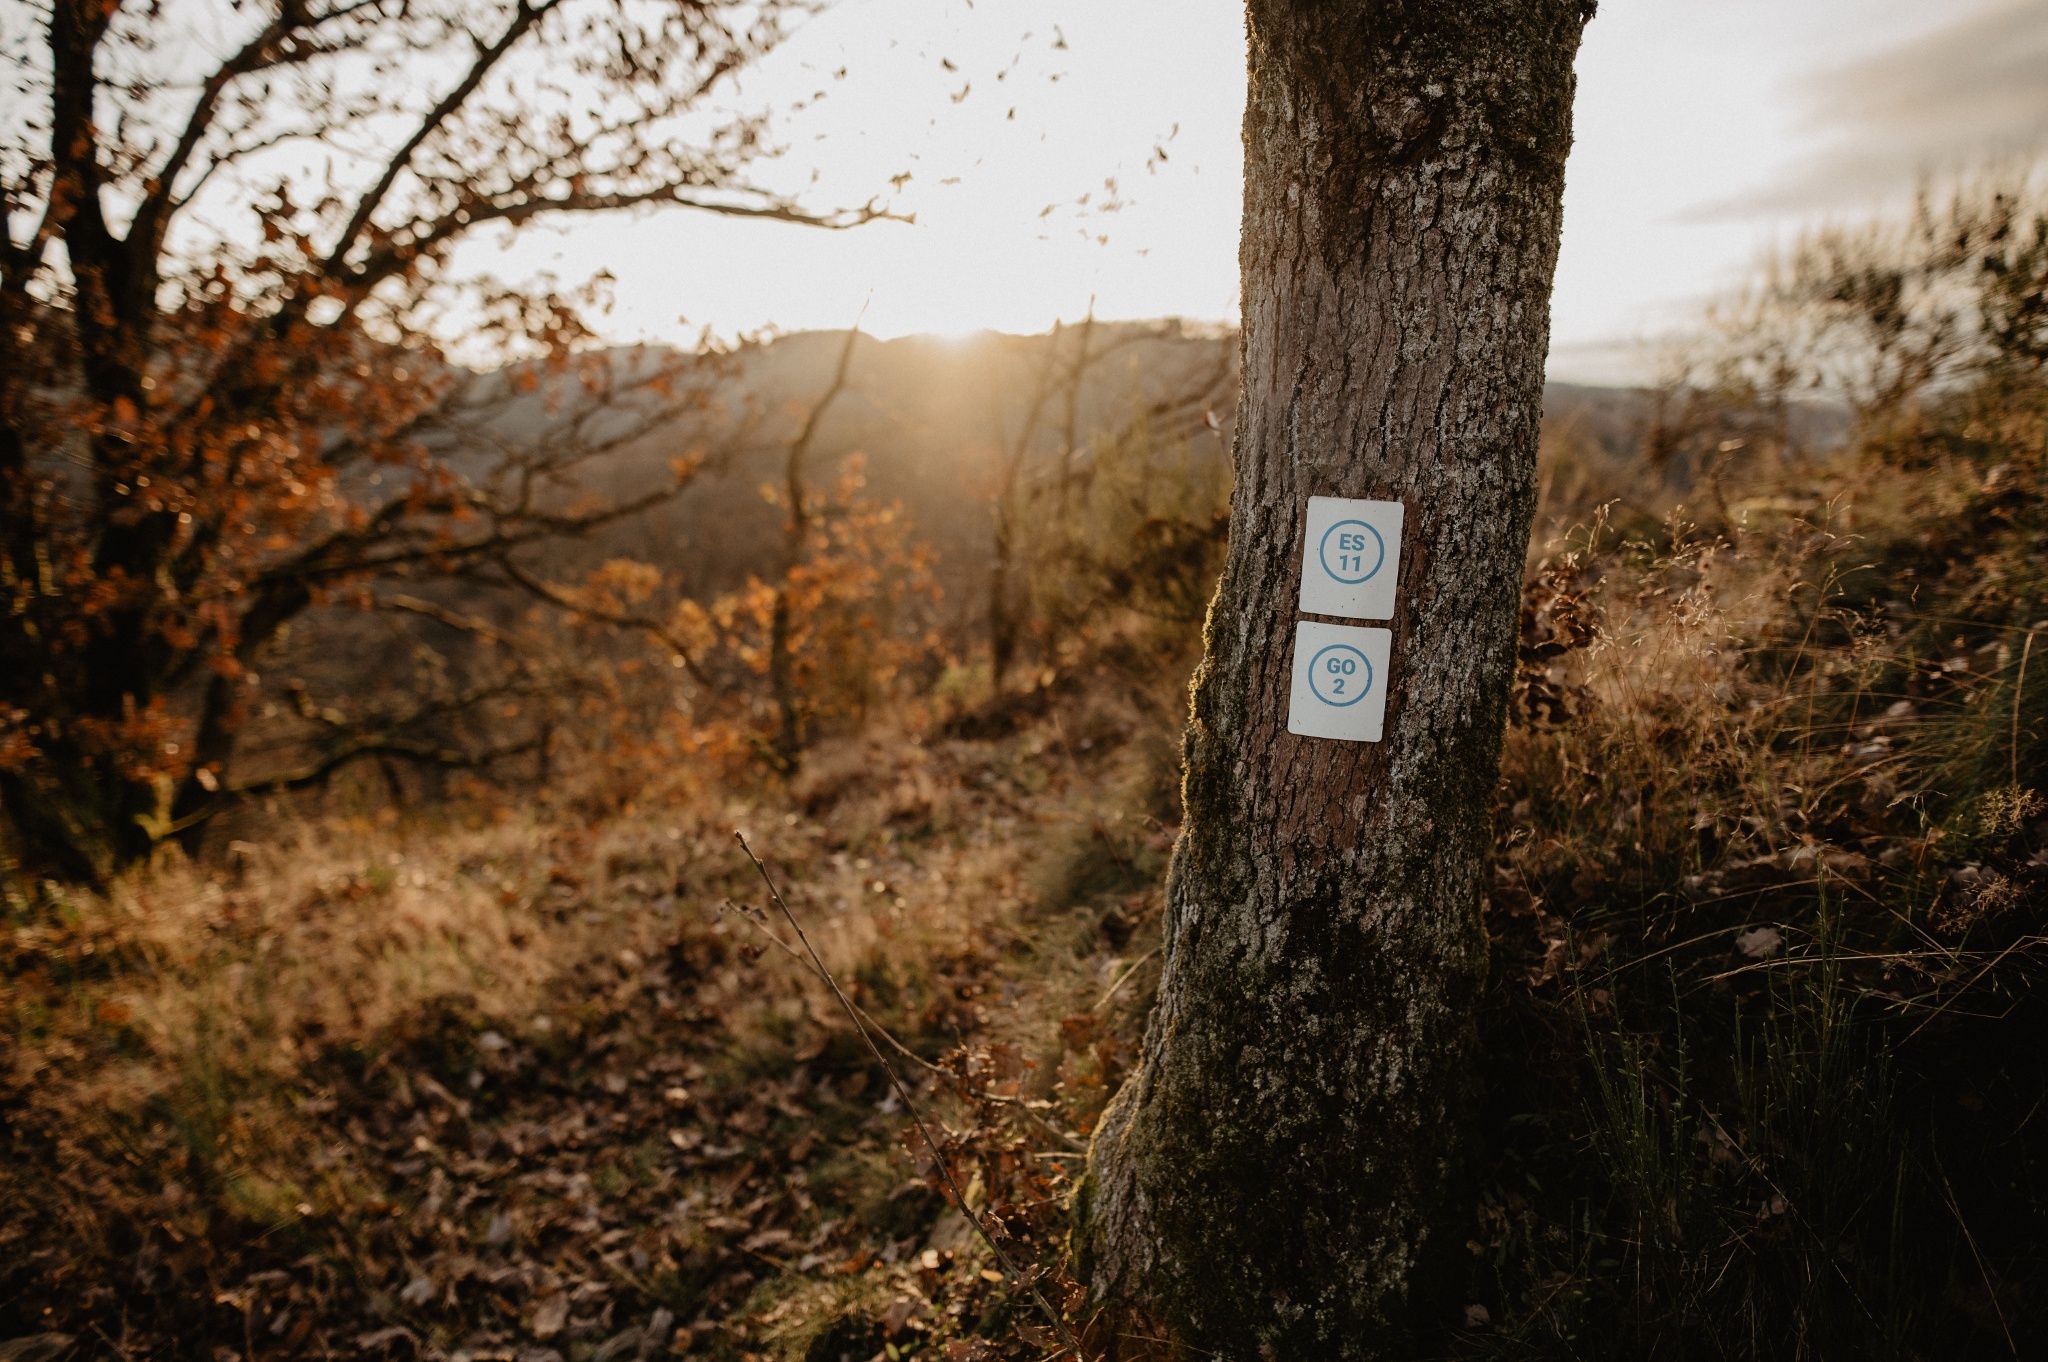
<path fill-rule="evenodd" d="M 1843 459 L 1763 518 L 1559 547 L 1599 629 L 1507 743 L 1473 1352 L 2040 1329 L 2040 514 Z"/>

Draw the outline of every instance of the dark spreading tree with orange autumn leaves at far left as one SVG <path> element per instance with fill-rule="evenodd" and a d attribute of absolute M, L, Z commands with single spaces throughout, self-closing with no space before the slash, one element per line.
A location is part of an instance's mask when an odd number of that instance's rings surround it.
<path fill-rule="evenodd" d="M 641 205 L 877 217 L 758 186 L 764 119 L 711 107 L 805 8 L 53 0 L 10 25 L 0 825 L 18 858 L 96 875 L 203 821 L 238 789 L 266 647 L 307 610 L 406 594 L 473 629 L 418 584 L 545 588 L 522 549 L 674 494 L 688 459 L 623 498 L 580 479 L 688 399 L 672 369 L 586 403 L 608 422 L 481 455 L 463 438 L 475 379 L 442 338 L 535 358 L 535 385 L 571 367 L 590 299 L 457 279 L 449 254 L 485 227 Z M 193 37 L 207 27 L 225 57 Z M 455 686 L 436 707 L 461 703 Z M 502 754 L 311 713 L 332 731 L 293 778 Z"/>

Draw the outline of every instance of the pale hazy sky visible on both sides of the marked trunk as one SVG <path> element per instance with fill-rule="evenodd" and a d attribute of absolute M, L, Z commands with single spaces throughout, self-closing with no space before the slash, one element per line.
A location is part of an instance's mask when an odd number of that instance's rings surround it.
<path fill-rule="evenodd" d="M 1108 317 L 1235 320 L 1241 0 L 842 0 L 737 98 L 819 88 L 770 176 L 819 205 L 879 195 L 915 225 L 670 211 L 469 260 L 608 268 L 621 338 L 838 328 L 862 305 L 883 336 L 1042 330 L 1090 295 Z M 2044 0 L 1604 0 L 1552 377 L 1640 377 L 1634 342 L 1681 328 L 1774 236 L 2044 141 Z"/>

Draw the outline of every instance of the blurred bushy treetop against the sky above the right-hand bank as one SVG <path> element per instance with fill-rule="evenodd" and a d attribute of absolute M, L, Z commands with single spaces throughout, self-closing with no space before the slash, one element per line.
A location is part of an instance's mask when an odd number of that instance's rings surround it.
<path fill-rule="evenodd" d="M 2044 289 L 2038 174 L 1929 184 L 1905 213 L 1812 227 L 1671 344 L 1638 436 L 1647 469 L 1618 483 L 1612 459 L 1561 451 L 1552 475 L 1608 467 L 1552 483 L 1552 502 L 1661 514 L 1655 500 L 1683 496 L 1688 514 L 1737 524 L 1761 508 L 1757 487 L 1843 442 L 1917 471 L 1950 455 L 2009 463 L 2015 444 L 1993 428 L 2038 412 Z M 1970 414 L 1978 430 L 1956 438 Z"/>

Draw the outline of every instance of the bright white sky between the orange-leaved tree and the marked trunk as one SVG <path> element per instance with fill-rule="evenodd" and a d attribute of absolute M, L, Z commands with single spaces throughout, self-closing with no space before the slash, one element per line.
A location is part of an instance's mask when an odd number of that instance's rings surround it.
<path fill-rule="evenodd" d="M 1090 299 L 1106 317 L 1235 317 L 1237 0 L 1085 6 L 1057 27 L 1024 0 L 944 18 L 868 0 L 811 23 L 750 92 L 774 104 L 813 86 L 829 98 L 782 129 L 786 188 L 821 207 L 877 199 L 915 221 L 817 231 L 668 211 L 526 233 L 467 264 L 606 268 L 618 285 L 604 328 L 625 340 L 836 330 L 856 315 L 885 338 L 1040 332 Z"/>

